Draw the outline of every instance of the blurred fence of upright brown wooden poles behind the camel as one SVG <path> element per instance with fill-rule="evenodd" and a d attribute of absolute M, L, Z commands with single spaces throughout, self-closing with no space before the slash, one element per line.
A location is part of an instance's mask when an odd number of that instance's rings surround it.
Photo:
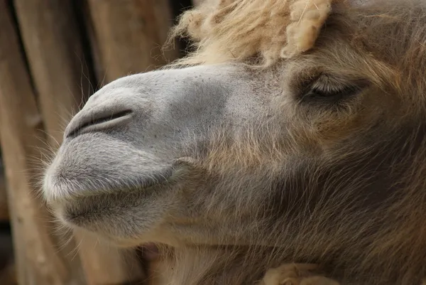
<path fill-rule="evenodd" d="M 60 231 L 38 193 L 42 161 L 89 96 L 185 55 L 185 41 L 162 47 L 193 5 L 0 0 L 0 285 L 167 284 L 146 249 L 124 251 Z"/>

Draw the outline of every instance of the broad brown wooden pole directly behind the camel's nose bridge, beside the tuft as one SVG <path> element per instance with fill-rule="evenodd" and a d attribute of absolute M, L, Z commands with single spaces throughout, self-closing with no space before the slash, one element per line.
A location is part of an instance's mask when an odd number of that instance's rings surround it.
<path fill-rule="evenodd" d="M 99 55 L 99 83 L 153 70 L 175 60 L 178 49 L 162 50 L 173 25 L 168 0 L 88 0 L 92 45 Z"/>

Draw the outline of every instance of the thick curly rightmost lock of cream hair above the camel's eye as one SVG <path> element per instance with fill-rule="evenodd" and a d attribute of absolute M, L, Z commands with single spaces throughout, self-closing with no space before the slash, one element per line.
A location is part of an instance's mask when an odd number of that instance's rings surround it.
<path fill-rule="evenodd" d="M 335 0 L 294 0 L 290 5 L 287 43 L 281 49 L 282 58 L 291 58 L 315 45 L 322 25 L 332 11 Z"/>

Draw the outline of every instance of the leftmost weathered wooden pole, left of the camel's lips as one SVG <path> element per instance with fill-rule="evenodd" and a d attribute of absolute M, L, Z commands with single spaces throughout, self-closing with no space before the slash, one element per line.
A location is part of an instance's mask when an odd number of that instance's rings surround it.
<path fill-rule="evenodd" d="M 10 7 L 0 1 L 0 137 L 6 169 L 16 272 L 21 285 L 78 282 L 50 237 L 50 215 L 35 188 L 45 155 L 43 124 Z M 81 280 L 80 280 L 81 281 Z M 77 284 L 84 284 L 78 282 Z"/>

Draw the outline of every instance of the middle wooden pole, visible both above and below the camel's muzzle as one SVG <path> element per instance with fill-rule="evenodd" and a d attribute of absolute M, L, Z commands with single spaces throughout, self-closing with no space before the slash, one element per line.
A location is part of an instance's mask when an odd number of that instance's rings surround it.
<path fill-rule="evenodd" d="M 15 0 L 15 6 L 49 143 L 56 149 L 65 124 L 90 95 L 91 70 L 74 6 L 72 0 Z M 75 232 L 75 237 L 88 284 L 143 279 L 136 254 L 94 244 L 81 232 Z"/>

